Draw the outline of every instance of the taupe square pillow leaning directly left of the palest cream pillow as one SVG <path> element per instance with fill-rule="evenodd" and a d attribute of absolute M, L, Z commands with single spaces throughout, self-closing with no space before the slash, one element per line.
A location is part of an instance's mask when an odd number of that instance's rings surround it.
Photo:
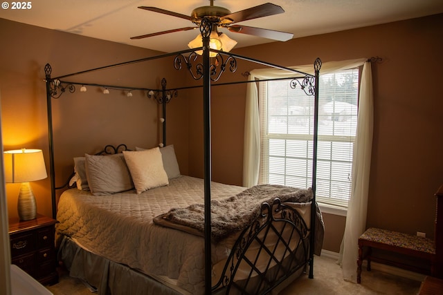
<path fill-rule="evenodd" d="M 134 189 L 131 175 L 121 153 L 84 155 L 89 189 L 94 196 L 109 195 Z"/>

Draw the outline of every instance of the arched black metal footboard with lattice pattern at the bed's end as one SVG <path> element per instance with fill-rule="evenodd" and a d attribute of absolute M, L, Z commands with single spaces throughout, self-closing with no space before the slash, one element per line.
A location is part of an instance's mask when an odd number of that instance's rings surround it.
<path fill-rule="evenodd" d="M 263 203 L 261 216 L 235 242 L 213 292 L 251 295 L 271 292 L 307 267 L 309 232 L 305 220 L 290 204 L 278 198 L 272 206 Z"/>

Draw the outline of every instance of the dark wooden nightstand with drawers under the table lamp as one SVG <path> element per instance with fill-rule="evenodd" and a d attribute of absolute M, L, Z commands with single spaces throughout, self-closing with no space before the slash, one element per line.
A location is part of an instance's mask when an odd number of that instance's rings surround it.
<path fill-rule="evenodd" d="M 40 214 L 33 220 L 9 219 L 12 264 L 23 269 L 42 285 L 58 282 L 55 223 L 57 220 Z"/>

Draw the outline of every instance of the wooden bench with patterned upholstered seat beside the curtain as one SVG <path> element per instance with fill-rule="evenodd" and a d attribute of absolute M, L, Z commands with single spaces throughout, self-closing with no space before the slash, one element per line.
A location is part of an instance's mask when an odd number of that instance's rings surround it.
<path fill-rule="evenodd" d="M 368 247 L 368 251 L 363 256 L 363 247 Z M 406 256 L 412 256 L 427 260 L 431 263 L 431 271 L 413 265 L 389 260 L 389 258 L 377 258 L 372 256 L 372 248 L 392 251 Z M 433 275 L 435 272 L 435 243 L 430 238 L 422 238 L 409 234 L 402 234 L 397 231 L 387 231 L 385 229 L 370 228 L 359 238 L 359 260 L 357 260 L 357 283 L 361 283 L 361 264 L 363 260 L 368 260 L 368 271 L 371 270 L 371 260 L 377 263 L 392 265 L 402 269 L 412 270 L 423 274 Z"/>

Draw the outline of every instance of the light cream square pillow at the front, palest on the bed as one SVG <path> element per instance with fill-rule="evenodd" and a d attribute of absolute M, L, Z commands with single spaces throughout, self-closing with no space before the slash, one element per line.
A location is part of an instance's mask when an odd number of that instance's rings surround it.
<path fill-rule="evenodd" d="M 169 184 L 158 147 L 145 151 L 123 151 L 123 155 L 137 193 Z"/>

